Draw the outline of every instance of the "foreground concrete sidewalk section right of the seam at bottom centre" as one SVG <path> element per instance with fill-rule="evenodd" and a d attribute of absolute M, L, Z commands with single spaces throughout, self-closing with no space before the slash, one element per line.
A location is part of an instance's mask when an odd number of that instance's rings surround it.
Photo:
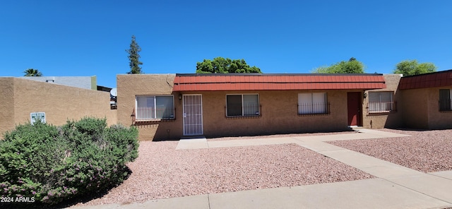
<path fill-rule="evenodd" d="M 437 200 L 383 179 L 214 193 L 210 208 L 446 208 Z"/>

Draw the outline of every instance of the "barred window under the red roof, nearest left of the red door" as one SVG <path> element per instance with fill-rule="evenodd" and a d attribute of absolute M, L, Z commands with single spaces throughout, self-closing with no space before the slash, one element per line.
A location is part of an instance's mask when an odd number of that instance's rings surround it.
<path fill-rule="evenodd" d="M 298 94 L 298 114 L 328 114 L 325 92 Z"/>

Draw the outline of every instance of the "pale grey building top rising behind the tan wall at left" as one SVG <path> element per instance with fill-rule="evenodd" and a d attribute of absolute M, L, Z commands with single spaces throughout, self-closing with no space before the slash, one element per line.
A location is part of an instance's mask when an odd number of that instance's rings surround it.
<path fill-rule="evenodd" d="M 77 88 L 97 89 L 96 76 L 22 76 L 18 78 L 56 83 Z"/>

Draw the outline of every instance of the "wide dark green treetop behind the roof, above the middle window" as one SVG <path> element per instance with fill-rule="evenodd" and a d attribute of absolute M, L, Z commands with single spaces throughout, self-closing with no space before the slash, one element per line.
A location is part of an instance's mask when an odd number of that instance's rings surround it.
<path fill-rule="evenodd" d="M 224 59 L 216 57 L 213 60 L 204 59 L 196 63 L 196 73 L 262 73 L 256 66 L 249 66 L 244 59 Z"/>

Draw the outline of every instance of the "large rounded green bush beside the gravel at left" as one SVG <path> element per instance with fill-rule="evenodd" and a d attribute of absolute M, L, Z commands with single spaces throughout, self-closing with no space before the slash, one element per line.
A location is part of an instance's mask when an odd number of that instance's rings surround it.
<path fill-rule="evenodd" d="M 135 128 L 105 119 L 16 126 L 0 141 L 0 194 L 54 204 L 111 188 L 138 157 L 137 138 Z"/>

